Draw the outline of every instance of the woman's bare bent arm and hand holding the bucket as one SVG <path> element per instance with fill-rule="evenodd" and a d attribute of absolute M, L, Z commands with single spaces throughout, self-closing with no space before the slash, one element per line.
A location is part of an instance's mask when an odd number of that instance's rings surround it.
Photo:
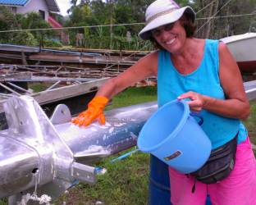
<path fill-rule="evenodd" d="M 211 98 L 194 92 L 184 93 L 179 98 L 190 98 L 190 108 L 194 111 L 206 109 L 221 116 L 245 120 L 249 116 L 249 102 L 240 70 L 226 44 L 220 43 L 218 50 L 219 75 L 226 99 Z"/>

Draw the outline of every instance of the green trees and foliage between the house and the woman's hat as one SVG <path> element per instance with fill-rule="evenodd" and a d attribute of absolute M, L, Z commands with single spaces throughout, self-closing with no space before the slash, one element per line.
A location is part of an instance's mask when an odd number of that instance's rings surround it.
<path fill-rule="evenodd" d="M 85 1 L 76 5 L 72 1 L 70 20 L 65 26 L 81 25 L 111 25 L 134 23 L 144 21 L 144 11 L 150 1 L 107 1 L 101 0 Z M 84 34 L 86 48 L 112 48 L 112 49 L 149 49 L 153 47 L 150 43 L 144 43 L 138 38 L 138 32 L 143 25 L 127 26 L 99 26 L 82 30 L 69 30 L 71 44 L 75 45 L 77 33 Z M 130 40 L 126 38 L 130 32 Z"/>

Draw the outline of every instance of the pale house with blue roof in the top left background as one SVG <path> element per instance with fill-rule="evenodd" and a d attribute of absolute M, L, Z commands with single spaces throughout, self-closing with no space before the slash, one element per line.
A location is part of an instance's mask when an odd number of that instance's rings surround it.
<path fill-rule="evenodd" d="M 14 13 L 39 12 L 45 21 L 51 12 L 60 12 L 55 0 L 0 0 L 0 6 L 10 7 Z"/>

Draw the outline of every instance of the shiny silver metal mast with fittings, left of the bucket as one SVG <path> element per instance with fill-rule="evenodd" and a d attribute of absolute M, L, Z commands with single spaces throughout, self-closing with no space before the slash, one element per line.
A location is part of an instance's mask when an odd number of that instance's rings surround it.
<path fill-rule="evenodd" d="M 71 112 L 58 105 L 51 119 L 30 96 L 4 104 L 8 129 L 0 131 L 0 198 L 9 204 L 49 203 L 77 181 L 94 184 L 89 166 L 136 144 L 139 130 L 157 109 L 145 103 L 106 112 L 106 125 L 71 124 Z"/>

